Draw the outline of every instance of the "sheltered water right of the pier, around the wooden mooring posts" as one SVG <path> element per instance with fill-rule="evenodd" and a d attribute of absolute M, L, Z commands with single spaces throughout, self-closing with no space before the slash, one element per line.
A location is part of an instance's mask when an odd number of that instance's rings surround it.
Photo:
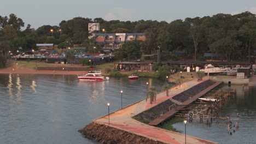
<path fill-rule="evenodd" d="M 220 109 L 219 117 L 236 118 L 237 113 L 240 113 L 238 129 L 232 128 L 231 133 L 228 133 L 227 119 L 209 119 L 209 124 L 206 124 L 206 119 L 203 123 L 198 121 L 188 122 L 186 125 L 187 134 L 215 141 L 218 143 L 234 144 L 234 143 L 256 143 L 256 87 L 242 86 L 224 86 L 222 89 L 236 89 L 236 97 L 230 98 L 228 104 Z M 237 121 L 232 120 L 234 125 Z M 173 127 L 184 131 L 184 123 L 173 124 Z M 235 131 L 234 131 L 235 130 Z"/>

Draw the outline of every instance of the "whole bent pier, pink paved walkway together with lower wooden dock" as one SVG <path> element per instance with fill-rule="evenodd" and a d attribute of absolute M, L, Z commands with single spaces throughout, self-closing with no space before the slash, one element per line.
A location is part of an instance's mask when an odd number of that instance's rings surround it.
<path fill-rule="evenodd" d="M 200 83 L 209 83 L 208 77 L 203 79 L 202 81 L 192 80 L 182 84 L 182 87 L 176 86 L 172 87 L 168 91 L 168 97 L 165 92 L 158 93 L 156 95 L 156 101 L 153 101 L 153 104 L 149 104 L 149 100 L 143 99 L 138 101 L 137 103 L 131 104 L 129 106 L 123 107 L 123 109 L 119 109 L 114 112 L 110 112 L 109 114 L 102 116 L 100 118 L 94 119 L 92 125 L 105 125 L 104 127 L 115 128 L 124 133 L 135 134 L 142 137 L 147 137 L 149 140 L 158 141 L 161 143 L 185 143 L 184 135 L 181 133 L 176 133 L 170 130 L 161 129 L 158 127 L 154 127 L 153 125 L 159 125 L 162 122 L 166 121 L 168 118 L 174 116 L 178 110 L 171 109 L 169 111 L 168 105 L 167 109 L 165 107 L 165 111 L 162 112 L 162 115 L 153 119 L 148 124 L 136 121 L 136 119 L 132 118 L 147 111 L 149 109 L 154 109 L 154 107 L 158 107 L 162 103 L 168 104 L 176 104 L 179 105 L 180 109 L 188 106 L 193 103 L 197 98 L 211 91 L 214 87 L 218 86 L 222 82 L 213 82 L 212 85 L 207 86 L 203 91 L 191 95 L 184 94 L 190 88 L 195 88 L 196 86 L 201 86 Z M 210 82 L 211 83 L 211 82 Z M 190 91 L 187 91 L 190 92 Z M 181 96 L 183 95 L 183 96 Z M 103 126 L 102 126 L 103 127 Z M 83 129 L 85 130 L 86 127 Z M 98 128 L 97 128 L 98 129 Z M 107 129 L 106 129 L 107 130 Z M 120 133 L 123 133 L 120 132 Z M 82 132 L 83 133 L 83 132 Z M 102 131 L 103 133 L 103 131 Z M 110 131 L 106 132 L 106 134 L 110 133 Z M 96 136 L 94 136 L 96 137 Z M 101 135 L 102 137 L 102 135 Z M 124 140 L 124 137 L 120 137 L 120 140 Z M 124 141 L 123 141 L 124 142 Z M 197 137 L 187 135 L 187 143 L 216 143 L 208 140 L 203 140 Z"/>

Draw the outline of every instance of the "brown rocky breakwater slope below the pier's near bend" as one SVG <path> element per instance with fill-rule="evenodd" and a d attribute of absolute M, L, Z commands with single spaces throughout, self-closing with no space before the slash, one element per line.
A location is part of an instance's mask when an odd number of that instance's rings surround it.
<path fill-rule="evenodd" d="M 85 128 L 79 130 L 87 139 L 95 140 L 100 143 L 148 143 L 162 144 L 164 142 L 155 141 L 148 137 L 129 133 L 118 128 L 111 127 L 107 124 L 98 124 L 92 122 Z"/>

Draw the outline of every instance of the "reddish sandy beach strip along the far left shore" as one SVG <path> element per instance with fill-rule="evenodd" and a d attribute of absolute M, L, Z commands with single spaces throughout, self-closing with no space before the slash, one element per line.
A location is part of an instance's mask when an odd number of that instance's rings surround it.
<path fill-rule="evenodd" d="M 0 69 L 0 74 L 60 74 L 60 75 L 83 75 L 88 71 L 66 71 L 66 70 L 34 70 L 17 67 Z"/>

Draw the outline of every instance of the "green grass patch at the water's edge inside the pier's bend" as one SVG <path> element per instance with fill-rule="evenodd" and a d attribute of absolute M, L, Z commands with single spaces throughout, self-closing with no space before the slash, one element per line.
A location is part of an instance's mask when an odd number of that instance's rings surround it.
<path fill-rule="evenodd" d="M 183 122 L 183 121 L 184 121 L 184 118 L 182 118 L 182 117 L 173 117 L 173 118 L 169 119 L 168 121 L 164 122 L 164 124 L 159 126 L 159 128 L 182 133 L 182 131 L 179 131 L 176 128 L 173 128 L 172 124 Z"/>

